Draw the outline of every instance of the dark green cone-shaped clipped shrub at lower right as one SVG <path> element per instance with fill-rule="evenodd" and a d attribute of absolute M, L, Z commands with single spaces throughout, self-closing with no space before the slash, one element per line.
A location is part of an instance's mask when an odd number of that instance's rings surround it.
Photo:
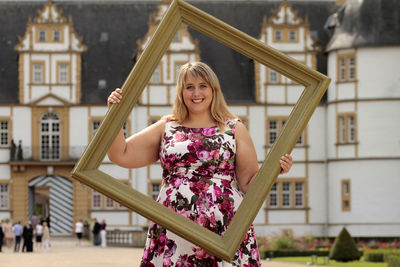
<path fill-rule="evenodd" d="M 329 253 L 329 258 L 336 261 L 347 262 L 359 260 L 361 252 L 358 251 L 356 242 L 350 236 L 349 232 L 343 227 L 333 242 Z"/>

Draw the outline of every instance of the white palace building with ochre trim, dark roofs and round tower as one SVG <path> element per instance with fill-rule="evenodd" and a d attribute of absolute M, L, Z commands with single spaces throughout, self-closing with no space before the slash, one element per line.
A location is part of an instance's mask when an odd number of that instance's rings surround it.
<path fill-rule="evenodd" d="M 71 177 L 71 171 L 169 6 L 161 1 L 0 1 L 0 219 L 49 217 L 70 235 L 79 219 L 140 230 L 148 220 Z M 332 79 L 254 220 L 335 236 L 400 235 L 400 3 L 190 1 Z M 396 13 L 397 12 L 397 13 Z M 397 15 L 396 15 L 397 14 Z M 177 72 L 204 61 L 264 161 L 303 87 L 182 25 L 124 124 L 126 136 L 170 114 Z M 100 169 L 156 198 L 159 163 Z"/>

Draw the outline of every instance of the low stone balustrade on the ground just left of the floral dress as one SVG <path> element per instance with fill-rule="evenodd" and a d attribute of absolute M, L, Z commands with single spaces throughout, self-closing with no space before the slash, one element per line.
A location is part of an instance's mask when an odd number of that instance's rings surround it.
<path fill-rule="evenodd" d="M 147 232 L 142 230 L 107 230 L 107 246 L 143 248 L 146 237 Z"/>

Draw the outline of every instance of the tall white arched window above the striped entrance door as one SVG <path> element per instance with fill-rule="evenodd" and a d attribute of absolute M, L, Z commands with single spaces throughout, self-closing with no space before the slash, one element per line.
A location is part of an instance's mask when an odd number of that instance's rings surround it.
<path fill-rule="evenodd" d="M 43 114 L 40 120 L 40 158 L 60 159 L 60 119 L 55 112 Z"/>

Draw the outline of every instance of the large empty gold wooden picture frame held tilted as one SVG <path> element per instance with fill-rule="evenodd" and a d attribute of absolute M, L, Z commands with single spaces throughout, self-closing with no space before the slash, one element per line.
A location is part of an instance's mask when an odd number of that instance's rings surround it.
<path fill-rule="evenodd" d="M 182 23 L 305 87 L 224 236 L 203 228 L 98 169 Z M 174 0 L 124 82 L 121 88 L 124 92 L 122 101 L 119 105 L 113 105 L 108 111 L 100 128 L 72 171 L 72 176 L 209 253 L 231 261 L 280 172 L 280 157 L 293 149 L 329 82 L 328 77 L 253 37 L 182 0 Z"/>

